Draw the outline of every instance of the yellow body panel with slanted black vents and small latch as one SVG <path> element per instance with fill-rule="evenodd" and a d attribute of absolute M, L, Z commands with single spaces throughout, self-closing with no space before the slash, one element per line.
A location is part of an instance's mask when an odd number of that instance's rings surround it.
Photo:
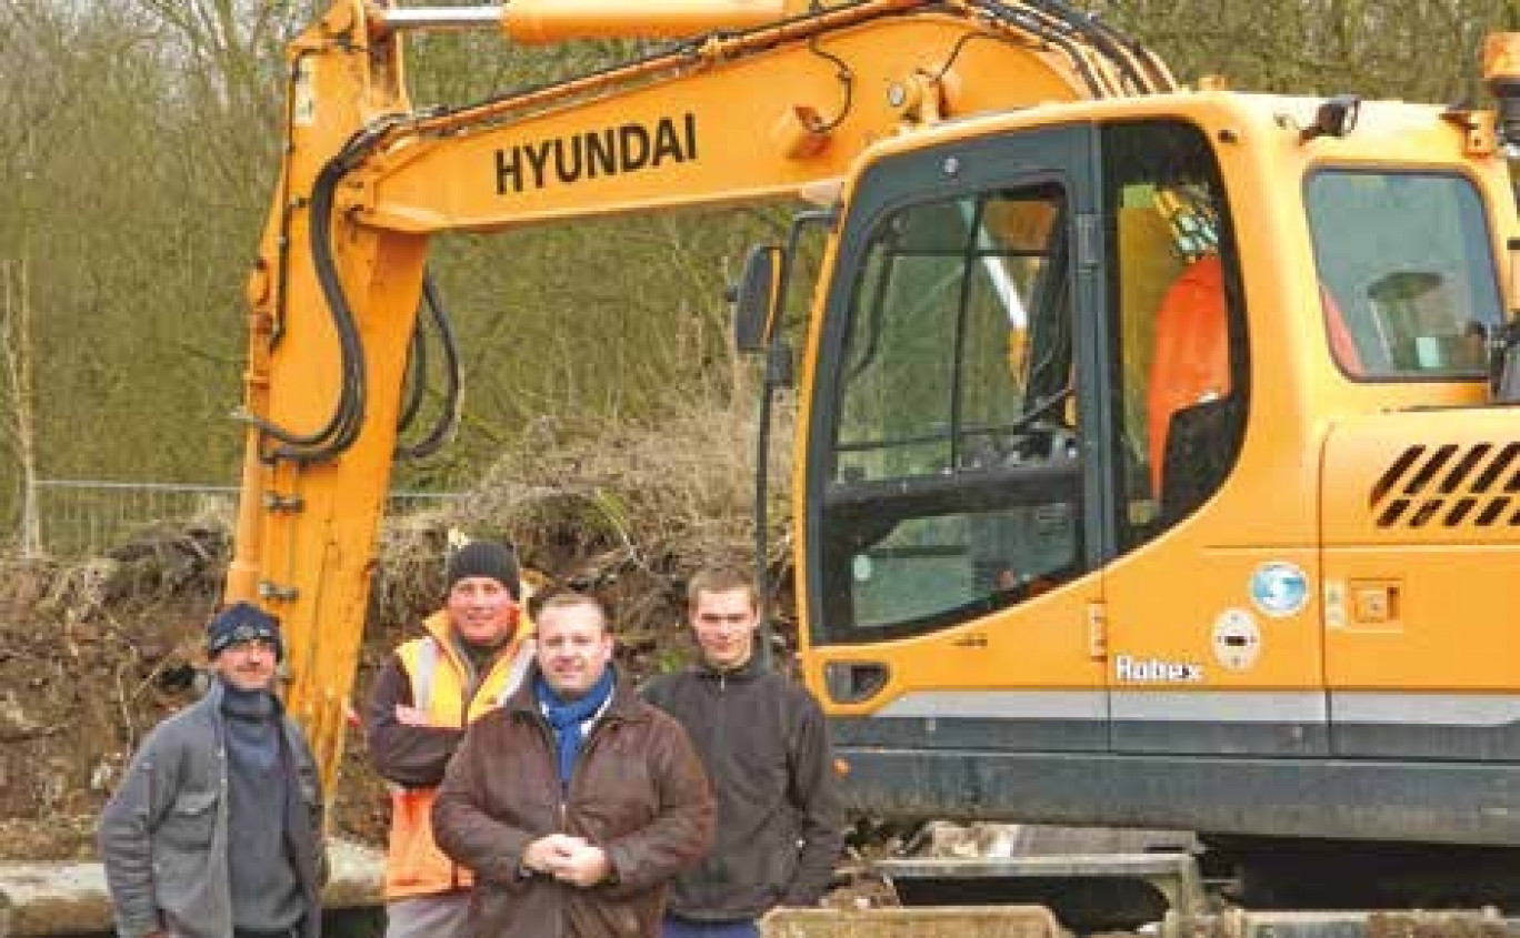
<path fill-rule="evenodd" d="M 1373 414 L 1332 431 L 1324 458 L 1325 590 L 1336 600 L 1325 619 L 1332 688 L 1520 686 L 1517 484 L 1520 434 L 1503 410 Z"/>

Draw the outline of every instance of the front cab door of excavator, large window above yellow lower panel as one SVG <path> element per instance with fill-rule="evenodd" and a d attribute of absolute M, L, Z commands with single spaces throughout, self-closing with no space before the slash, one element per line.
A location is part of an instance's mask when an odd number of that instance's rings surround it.
<path fill-rule="evenodd" d="M 798 525 L 842 747 L 1108 748 L 1093 170 L 1079 124 L 889 156 L 853 193 Z"/>

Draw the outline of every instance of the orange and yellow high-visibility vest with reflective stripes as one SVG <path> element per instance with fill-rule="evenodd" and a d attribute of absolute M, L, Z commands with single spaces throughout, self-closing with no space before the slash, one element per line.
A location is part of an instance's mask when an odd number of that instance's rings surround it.
<path fill-rule="evenodd" d="M 534 660 L 532 624 L 526 616 L 512 644 L 497 656 L 480 686 L 465 700 L 465 669 L 450 641 L 448 615 L 433 613 L 424 622 L 427 634 L 397 648 L 412 678 L 412 706 L 426 710 L 436 727 L 464 729 L 499 707 L 523 683 Z M 436 788 L 392 788 L 391 848 L 386 856 L 386 902 L 467 888 L 470 871 L 453 862 L 433 842 Z"/>

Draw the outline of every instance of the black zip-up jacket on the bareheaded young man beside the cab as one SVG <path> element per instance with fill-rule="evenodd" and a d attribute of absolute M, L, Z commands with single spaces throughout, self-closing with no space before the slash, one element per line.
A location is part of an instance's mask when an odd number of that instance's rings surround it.
<path fill-rule="evenodd" d="M 818 905 L 844 845 L 844 812 L 807 688 L 751 659 L 657 677 L 643 697 L 686 727 L 717 795 L 713 848 L 676 879 L 669 909 L 725 921 Z"/>

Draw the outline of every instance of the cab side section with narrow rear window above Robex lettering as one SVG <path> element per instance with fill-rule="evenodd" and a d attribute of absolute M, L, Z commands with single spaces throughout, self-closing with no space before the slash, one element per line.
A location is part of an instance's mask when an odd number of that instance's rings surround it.
<path fill-rule="evenodd" d="M 1110 124 L 1102 146 L 1114 284 L 1104 449 L 1114 748 L 1324 754 L 1324 654 L 1309 589 L 1316 554 L 1307 539 L 1252 540 L 1260 525 L 1249 524 L 1298 511 L 1303 499 L 1262 489 L 1283 499 L 1274 505 L 1237 474 L 1251 337 L 1219 162 L 1208 135 L 1181 120 Z"/>

